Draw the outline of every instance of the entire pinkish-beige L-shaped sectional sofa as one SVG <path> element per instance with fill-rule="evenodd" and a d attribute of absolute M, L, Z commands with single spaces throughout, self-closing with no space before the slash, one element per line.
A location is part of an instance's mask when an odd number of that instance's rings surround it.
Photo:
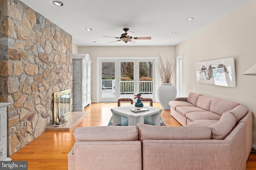
<path fill-rule="evenodd" d="M 68 169 L 246 170 L 252 147 L 252 111 L 240 104 L 207 97 L 202 100 L 200 96 L 191 93 L 188 98 L 170 102 L 175 118 L 184 125 L 181 127 L 141 123 L 127 127 L 76 127 Z M 206 101 L 210 100 L 209 106 Z M 198 115 L 189 114 L 187 118 L 188 112 L 185 118 L 181 117 L 189 108 Z"/>

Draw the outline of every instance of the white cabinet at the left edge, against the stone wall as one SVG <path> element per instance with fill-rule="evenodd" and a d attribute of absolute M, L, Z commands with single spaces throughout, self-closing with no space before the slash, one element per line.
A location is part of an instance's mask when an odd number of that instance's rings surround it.
<path fill-rule="evenodd" d="M 0 161 L 12 160 L 7 157 L 7 106 L 10 103 L 0 103 Z"/>

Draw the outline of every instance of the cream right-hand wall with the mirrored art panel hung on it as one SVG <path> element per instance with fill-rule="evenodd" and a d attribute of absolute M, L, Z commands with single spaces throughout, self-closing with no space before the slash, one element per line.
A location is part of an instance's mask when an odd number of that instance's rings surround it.
<path fill-rule="evenodd" d="M 242 75 L 256 63 L 256 0 L 232 12 L 176 46 L 183 54 L 184 96 L 197 92 L 244 104 L 254 112 L 254 145 L 256 145 L 256 76 Z M 236 88 L 199 84 L 195 63 L 234 57 Z M 255 147 L 255 146 L 254 146 Z"/>

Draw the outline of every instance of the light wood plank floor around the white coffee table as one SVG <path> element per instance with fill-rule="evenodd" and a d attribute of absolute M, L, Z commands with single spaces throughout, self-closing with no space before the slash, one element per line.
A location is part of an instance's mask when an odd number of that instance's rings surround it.
<path fill-rule="evenodd" d="M 121 106 L 125 104 L 127 103 L 121 103 Z M 159 103 L 154 103 L 153 106 L 161 108 Z M 108 125 L 112 116 L 110 109 L 113 107 L 117 107 L 117 103 L 92 103 L 90 106 L 86 106 L 84 111 L 89 113 L 75 127 Z M 170 110 L 163 110 L 161 117 L 167 126 L 181 126 L 171 117 Z M 67 155 L 75 143 L 73 136 L 75 127 L 70 131 L 47 130 L 10 158 L 28 161 L 28 170 L 67 170 Z M 246 170 L 256 170 L 255 154 L 250 154 Z"/>

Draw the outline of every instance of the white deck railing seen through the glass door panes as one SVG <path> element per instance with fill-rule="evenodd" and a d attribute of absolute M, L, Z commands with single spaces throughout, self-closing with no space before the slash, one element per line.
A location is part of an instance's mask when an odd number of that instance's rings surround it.
<path fill-rule="evenodd" d="M 114 89 L 115 80 L 102 80 L 102 88 Z M 134 81 L 121 81 L 120 90 L 122 94 L 134 93 Z M 153 93 L 153 81 L 140 81 L 140 93 Z"/>

